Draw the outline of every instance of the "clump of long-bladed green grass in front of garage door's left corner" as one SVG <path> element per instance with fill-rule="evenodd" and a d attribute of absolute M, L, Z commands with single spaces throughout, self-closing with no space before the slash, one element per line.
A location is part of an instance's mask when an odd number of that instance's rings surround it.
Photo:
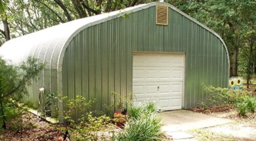
<path fill-rule="evenodd" d="M 129 113 L 133 114 L 129 114 L 125 129 L 114 135 L 112 140 L 163 140 L 161 119 L 156 110 L 153 110 L 153 105 L 147 103 L 129 108 Z"/>

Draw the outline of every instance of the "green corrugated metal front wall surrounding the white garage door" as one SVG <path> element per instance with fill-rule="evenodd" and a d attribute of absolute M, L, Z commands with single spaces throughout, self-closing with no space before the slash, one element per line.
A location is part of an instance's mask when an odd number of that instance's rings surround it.
<path fill-rule="evenodd" d="M 226 87 L 228 59 L 213 33 L 169 8 L 169 24 L 156 25 L 156 7 L 89 27 L 66 49 L 63 95 L 96 99 L 110 105 L 112 92 L 132 93 L 133 52 L 184 52 L 184 108 L 207 100 L 201 84 Z"/>

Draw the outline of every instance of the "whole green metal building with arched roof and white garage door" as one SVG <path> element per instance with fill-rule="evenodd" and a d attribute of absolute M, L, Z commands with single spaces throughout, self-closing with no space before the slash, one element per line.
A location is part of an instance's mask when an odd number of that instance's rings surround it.
<path fill-rule="evenodd" d="M 28 87 L 37 107 L 39 88 L 110 105 L 112 93 L 133 93 L 177 110 L 207 101 L 202 84 L 227 87 L 228 50 L 217 33 L 167 3 L 148 3 L 74 20 L 12 39 L 0 48 L 12 64 L 28 56 L 45 69 Z M 60 110 L 63 104 L 59 103 Z"/>

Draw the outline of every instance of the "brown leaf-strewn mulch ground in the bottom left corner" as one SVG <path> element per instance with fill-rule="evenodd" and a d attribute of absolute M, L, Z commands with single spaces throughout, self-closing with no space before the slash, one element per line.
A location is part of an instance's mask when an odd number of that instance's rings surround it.
<path fill-rule="evenodd" d="M 58 136 L 63 136 L 59 133 L 55 125 L 51 125 L 43 119 L 27 112 L 22 116 L 23 127 L 22 131 L 13 132 L 11 130 L 0 131 L 0 140 L 57 140 Z"/>

